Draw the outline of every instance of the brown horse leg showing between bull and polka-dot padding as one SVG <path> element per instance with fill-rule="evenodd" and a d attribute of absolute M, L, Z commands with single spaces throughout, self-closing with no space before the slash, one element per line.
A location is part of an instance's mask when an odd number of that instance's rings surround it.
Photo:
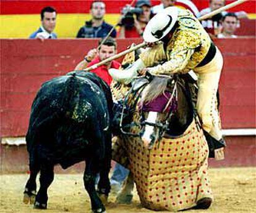
<path fill-rule="evenodd" d="M 121 191 L 116 197 L 116 203 L 119 204 L 130 204 L 132 203 L 132 191 L 134 190 L 134 177 L 132 172 L 129 172 L 129 175 L 124 182 Z"/>

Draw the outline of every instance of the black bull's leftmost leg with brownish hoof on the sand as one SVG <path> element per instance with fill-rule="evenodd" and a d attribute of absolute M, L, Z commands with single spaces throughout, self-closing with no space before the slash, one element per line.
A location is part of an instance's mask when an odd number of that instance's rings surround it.
<path fill-rule="evenodd" d="M 25 185 L 25 190 L 23 193 L 23 203 L 34 204 L 36 196 L 36 176 L 40 171 L 40 164 L 38 163 L 36 156 L 34 156 L 33 154 L 30 154 L 29 161 L 30 177 Z"/>

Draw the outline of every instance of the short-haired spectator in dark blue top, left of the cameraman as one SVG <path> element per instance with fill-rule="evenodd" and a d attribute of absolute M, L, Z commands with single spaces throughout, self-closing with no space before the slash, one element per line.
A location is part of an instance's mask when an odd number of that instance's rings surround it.
<path fill-rule="evenodd" d="M 93 1 L 90 7 L 92 20 L 85 22 L 77 33 L 77 38 L 104 38 L 113 28 L 104 21 L 106 13 L 105 3 L 103 1 Z M 116 30 L 110 34 L 111 37 L 116 37 Z"/>

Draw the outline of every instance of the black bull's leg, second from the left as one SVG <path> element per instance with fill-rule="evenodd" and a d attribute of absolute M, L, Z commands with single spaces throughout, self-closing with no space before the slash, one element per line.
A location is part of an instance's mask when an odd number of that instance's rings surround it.
<path fill-rule="evenodd" d="M 48 195 L 47 190 L 49 185 L 53 182 L 54 179 L 54 171 L 53 171 L 54 165 L 51 163 L 43 163 L 40 167 L 40 189 L 38 190 L 38 193 L 36 195 L 35 209 L 46 209 L 47 208 L 47 201 L 48 201 Z"/>

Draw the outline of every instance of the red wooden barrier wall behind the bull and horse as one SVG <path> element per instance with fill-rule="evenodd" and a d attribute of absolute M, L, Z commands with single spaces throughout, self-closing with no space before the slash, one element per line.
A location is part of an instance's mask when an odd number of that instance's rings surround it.
<path fill-rule="evenodd" d="M 74 69 L 96 39 L 1 39 L 0 137 L 25 135 L 30 106 L 42 82 Z M 138 39 L 117 39 L 118 50 Z M 217 40 L 224 55 L 221 117 L 224 128 L 256 127 L 255 38 Z"/>

